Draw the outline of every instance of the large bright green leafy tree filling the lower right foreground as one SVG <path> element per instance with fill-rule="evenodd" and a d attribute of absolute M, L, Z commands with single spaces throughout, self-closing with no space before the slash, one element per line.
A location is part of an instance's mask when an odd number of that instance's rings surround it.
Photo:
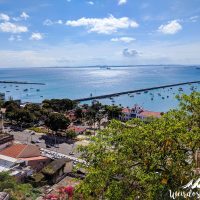
<path fill-rule="evenodd" d="M 83 199 L 170 199 L 197 180 L 194 154 L 200 148 L 200 93 L 183 95 L 178 110 L 144 123 L 113 120 L 81 147 L 88 172 L 78 186 Z"/>

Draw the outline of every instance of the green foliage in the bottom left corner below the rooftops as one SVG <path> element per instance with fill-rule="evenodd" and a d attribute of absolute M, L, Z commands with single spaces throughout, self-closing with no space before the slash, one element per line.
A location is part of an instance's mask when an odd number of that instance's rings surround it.
<path fill-rule="evenodd" d="M 18 183 L 7 172 L 0 173 L 0 192 L 5 191 L 10 194 L 10 200 L 36 199 L 39 191 L 30 184 Z"/>

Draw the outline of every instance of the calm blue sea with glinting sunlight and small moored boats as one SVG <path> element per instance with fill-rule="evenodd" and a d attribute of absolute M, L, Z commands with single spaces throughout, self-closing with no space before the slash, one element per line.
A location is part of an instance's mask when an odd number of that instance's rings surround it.
<path fill-rule="evenodd" d="M 12 96 L 23 102 L 41 102 L 51 98 L 82 98 L 95 95 L 142 89 L 152 86 L 200 80 L 200 70 L 195 66 L 135 66 L 94 68 L 13 68 L 0 69 L 1 81 L 41 82 L 46 85 L 1 84 L 0 92 L 6 98 Z M 195 84 L 197 90 L 200 85 Z M 184 93 L 191 92 L 189 85 L 183 86 Z M 28 91 L 24 91 L 28 89 Z M 152 91 L 152 95 L 140 94 L 130 97 L 123 95 L 101 100 L 103 103 L 123 106 L 139 104 L 145 109 L 167 111 L 177 106 L 175 95 L 178 87 L 172 90 Z M 161 94 L 161 96 L 158 95 Z M 168 97 L 167 97 L 168 96 Z M 152 98 L 153 97 L 153 98 Z M 163 98 L 162 98 L 163 97 Z"/>

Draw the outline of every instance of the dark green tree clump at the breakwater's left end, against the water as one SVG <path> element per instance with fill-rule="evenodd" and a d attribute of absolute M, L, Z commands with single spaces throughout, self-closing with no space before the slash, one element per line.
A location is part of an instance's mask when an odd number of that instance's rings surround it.
<path fill-rule="evenodd" d="M 42 102 L 43 108 L 47 110 L 52 110 L 55 112 L 66 112 L 67 110 L 71 110 L 75 108 L 77 105 L 76 102 L 70 99 L 51 99 L 51 100 L 44 100 Z"/>

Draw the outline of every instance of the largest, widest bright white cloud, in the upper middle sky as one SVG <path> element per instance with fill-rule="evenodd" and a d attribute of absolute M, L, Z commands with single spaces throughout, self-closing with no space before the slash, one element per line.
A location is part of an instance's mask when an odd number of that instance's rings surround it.
<path fill-rule="evenodd" d="M 139 24 L 128 17 L 115 18 L 110 15 L 107 18 L 80 18 L 78 20 L 67 21 L 67 26 L 79 27 L 85 26 L 88 32 L 100 34 L 112 34 L 118 29 L 137 28 Z"/>

